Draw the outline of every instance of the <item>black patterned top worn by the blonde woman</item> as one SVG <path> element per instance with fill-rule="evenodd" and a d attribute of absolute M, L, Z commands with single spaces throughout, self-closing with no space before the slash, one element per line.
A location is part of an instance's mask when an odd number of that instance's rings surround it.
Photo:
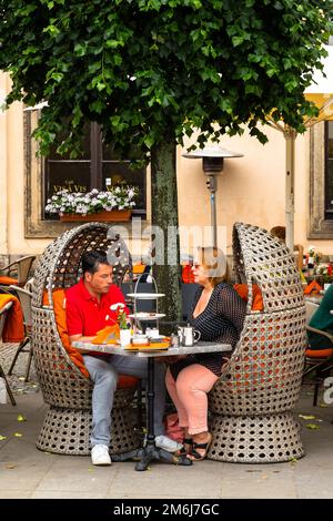
<path fill-rule="evenodd" d="M 245 302 L 242 300 L 231 286 L 220 283 L 214 287 L 204 310 L 194 318 L 193 311 L 202 290 L 203 287 L 200 287 L 195 293 L 189 324 L 201 333 L 201 340 L 231 344 L 234 349 L 243 328 L 246 313 Z M 186 358 L 178 360 L 170 366 L 171 375 L 176 379 L 182 369 L 192 364 L 200 364 L 210 369 L 214 375 L 220 376 L 223 358 L 229 358 L 231 353 L 198 353 L 198 355 L 189 355 Z"/>

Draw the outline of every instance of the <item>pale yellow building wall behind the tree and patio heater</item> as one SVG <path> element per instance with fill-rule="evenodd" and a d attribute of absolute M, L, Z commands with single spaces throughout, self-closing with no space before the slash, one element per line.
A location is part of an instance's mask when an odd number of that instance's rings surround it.
<path fill-rule="evenodd" d="M 9 78 L 0 73 L 0 100 L 9 92 Z M 68 224 L 42 218 L 42 171 L 36 157 L 37 145 L 30 139 L 38 112 L 23 111 L 14 103 L 0 112 L 0 259 L 40 254 Z M 324 255 L 333 255 L 333 219 L 324 213 L 325 124 L 320 123 L 295 144 L 295 233 L 296 244 L 306 251 L 313 245 Z M 262 145 L 244 132 L 242 136 L 221 140 L 221 146 L 244 154 L 224 160 L 218 180 L 218 225 L 231 244 L 234 222 L 245 222 L 270 229 L 285 223 L 285 140 L 266 126 L 269 143 Z M 189 143 L 190 144 L 190 143 Z M 186 231 L 209 226 L 210 193 L 201 160 L 182 156 L 178 147 L 178 190 L 181 251 L 186 253 Z M 150 222 L 150 174 L 147 172 L 147 219 Z M 333 203 L 333 202 L 332 202 Z M 130 226 L 130 225 L 129 225 Z M 131 231 L 129 236 L 132 239 Z M 147 239 L 145 239 L 147 243 Z M 133 253 L 142 249 L 133 238 Z M 147 245 L 145 245 L 147 246 Z M 231 252 L 228 252 L 231 253 Z"/>

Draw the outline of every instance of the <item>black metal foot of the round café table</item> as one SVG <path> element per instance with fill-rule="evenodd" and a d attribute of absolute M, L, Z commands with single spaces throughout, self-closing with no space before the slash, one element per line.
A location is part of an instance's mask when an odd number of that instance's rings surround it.
<path fill-rule="evenodd" d="M 112 461 L 139 460 L 135 470 L 147 470 L 151 461 L 165 461 L 181 466 L 190 466 L 192 461 L 185 456 L 176 456 L 174 452 L 168 452 L 164 449 L 158 449 L 154 443 L 148 443 L 143 449 L 131 450 L 123 454 L 113 454 Z"/>

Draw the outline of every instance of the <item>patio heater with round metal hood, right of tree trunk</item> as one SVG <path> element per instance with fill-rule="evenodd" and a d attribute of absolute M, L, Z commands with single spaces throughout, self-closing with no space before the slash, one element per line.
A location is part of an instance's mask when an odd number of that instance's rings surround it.
<path fill-rule="evenodd" d="M 212 243 L 218 246 L 218 225 L 216 225 L 216 197 L 218 192 L 218 176 L 222 173 L 223 161 L 229 157 L 243 157 L 244 154 L 232 152 L 220 146 L 206 146 L 199 149 L 188 154 L 182 154 L 183 157 L 190 160 L 202 159 L 202 168 L 206 175 L 206 186 L 211 194 L 211 225 L 212 225 Z"/>

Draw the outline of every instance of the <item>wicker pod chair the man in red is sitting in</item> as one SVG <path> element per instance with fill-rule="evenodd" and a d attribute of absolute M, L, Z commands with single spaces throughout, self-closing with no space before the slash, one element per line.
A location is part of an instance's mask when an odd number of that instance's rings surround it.
<path fill-rule="evenodd" d="M 90 249 L 112 252 L 114 282 L 120 284 L 132 267 L 131 256 L 112 228 L 89 223 L 72 228 L 40 256 L 32 289 L 32 344 L 34 364 L 44 401 L 50 406 L 37 442 L 41 450 L 64 454 L 88 454 L 91 432 L 92 382 L 72 362 L 60 339 L 52 292 L 68 288 L 80 277 L 82 255 Z M 43 305 L 48 292 L 49 305 Z M 118 389 L 112 409 L 111 453 L 138 447 L 130 415 L 135 387 Z"/>

